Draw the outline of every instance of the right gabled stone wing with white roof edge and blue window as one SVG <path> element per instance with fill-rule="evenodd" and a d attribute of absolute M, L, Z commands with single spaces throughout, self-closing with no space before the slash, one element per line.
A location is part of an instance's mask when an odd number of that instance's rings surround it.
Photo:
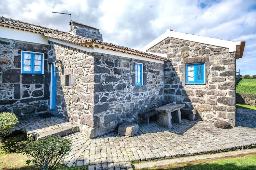
<path fill-rule="evenodd" d="M 236 124 L 236 59 L 245 41 L 227 41 L 170 29 L 142 51 L 167 54 L 164 101 L 194 108 L 204 121 L 221 119 Z"/>

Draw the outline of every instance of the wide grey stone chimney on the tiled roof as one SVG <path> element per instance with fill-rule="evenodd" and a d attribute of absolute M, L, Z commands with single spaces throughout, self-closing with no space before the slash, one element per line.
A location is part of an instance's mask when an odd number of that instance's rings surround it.
<path fill-rule="evenodd" d="M 93 38 L 95 40 L 103 41 L 102 34 L 100 34 L 99 29 L 86 26 L 79 22 L 71 21 L 70 32 L 85 38 L 89 38 L 89 39 Z"/>

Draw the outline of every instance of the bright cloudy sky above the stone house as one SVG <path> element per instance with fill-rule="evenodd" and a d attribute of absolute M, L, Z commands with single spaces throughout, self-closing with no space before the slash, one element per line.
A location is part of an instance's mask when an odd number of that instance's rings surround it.
<path fill-rule="evenodd" d="M 69 31 L 71 20 L 103 41 L 140 50 L 167 29 L 246 41 L 240 74 L 256 75 L 256 0 L 0 0 L 0 16 Z"/>

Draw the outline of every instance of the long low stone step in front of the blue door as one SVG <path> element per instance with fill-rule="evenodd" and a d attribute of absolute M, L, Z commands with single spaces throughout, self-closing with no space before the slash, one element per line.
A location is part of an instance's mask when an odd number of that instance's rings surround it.
<path fill-rule="evenodd" d="M 31 137 L 33 140 L 39 140 L 49 135 L 67 136 L 75 132 L 79 132 L 79 127 L 71 122 L 65 122 L 46 128 L 28 131 L 27 136 Z"/>

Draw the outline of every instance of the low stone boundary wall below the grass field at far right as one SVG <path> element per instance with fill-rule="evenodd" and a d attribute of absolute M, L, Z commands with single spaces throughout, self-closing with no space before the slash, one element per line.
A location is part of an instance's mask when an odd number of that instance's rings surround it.
<path fill-rule="evenodd" d="M 240 104 L 247 104 L 256 106 L 256 94 L 252 93 L 237 93 L 236 102 Z"/>

